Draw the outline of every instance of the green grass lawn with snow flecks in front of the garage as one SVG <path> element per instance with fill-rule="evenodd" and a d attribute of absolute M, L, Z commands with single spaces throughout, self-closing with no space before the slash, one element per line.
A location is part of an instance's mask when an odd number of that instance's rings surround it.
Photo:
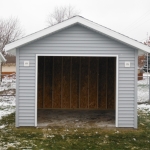
<path fill-rule="evenodd" d="M 149 150 L 150 112 L 139 111 L 138 129 L 15 128 L 15 114 L 0 120 L 0 149 Z"/>

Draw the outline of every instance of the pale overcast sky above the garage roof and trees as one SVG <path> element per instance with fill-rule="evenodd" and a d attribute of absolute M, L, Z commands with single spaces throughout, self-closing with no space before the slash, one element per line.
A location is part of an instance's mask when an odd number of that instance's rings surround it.
<path fill-rule="evenodd" d="M 56 6 L 66 5 L 138 41 L 150 36 L 150 0 L 0 0 L 0 18 L 17 17 L 28 35 L 47 27 L 47 16 Z"/>

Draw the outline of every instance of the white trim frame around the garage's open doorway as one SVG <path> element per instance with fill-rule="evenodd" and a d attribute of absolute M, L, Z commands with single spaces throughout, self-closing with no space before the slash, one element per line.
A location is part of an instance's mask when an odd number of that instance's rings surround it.
<path fill-rule="evenodd" d="M 71 57 L 116 57 L 116 116 L 115 125 L 118 127 L 118 55 L 95 55 L 95 54 L 36 54 L 35 74 L 35 126 L 37 126 L 37 82 L 38 82 L 38 56 L 71 56 Z"/>

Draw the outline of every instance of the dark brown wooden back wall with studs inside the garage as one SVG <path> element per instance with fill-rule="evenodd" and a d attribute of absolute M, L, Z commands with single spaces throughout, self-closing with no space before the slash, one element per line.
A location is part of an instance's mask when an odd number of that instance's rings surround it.
<path fill-rule="evenodd" d="M 38 108 L 115 109 L 114 57 L 38 57 Z"/>

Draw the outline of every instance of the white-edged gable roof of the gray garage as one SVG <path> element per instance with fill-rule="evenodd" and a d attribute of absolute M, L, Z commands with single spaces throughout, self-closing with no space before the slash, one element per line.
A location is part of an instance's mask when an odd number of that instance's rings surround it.
<path fill-rule="evenodd" d="M 150 47 L 144 45 L 143 43 L 140 43 L 140 42 L 138 42 L 138 41 L 136 41 L 134 39 L 131 39 L 131 38 L 125 36 L 125 35 L 122 35 L 122 34 L 120 34 L 118 32 L 115 32 L 115 31 L 113 31 L 111 29 L 108 29 L 108 28 L 106 28 L 104 26 L 101 26 L 101 25 L 99 25 L 97 23 L 94 23 L 94 22 L 92 22 L 92 21 L 90 21 L 88 19 L 85 19 L 85 18 L 81 17 L 81 16 L 72 17 L 72 18 L 70 18 L 68 20 L 65 20 L 65 21 L 59 23 L 59 24 L 56 24 L 54 26 L 50 26 L 50 27 L 45 28 L 45 29 L 43 29 L 43 30 L 41 30 L 39 32 L 36 32 L 36 33 L 33 33 L 33 34 L 29 35 L 29 36 L 21 38 L 20 40 L 14 41 L 14 42 L 6 45 L 4 47 L 4 49 L 6 51 L 14 53 L 17 47 L 20 47 L 20 46 L 22 46 L 24 44 L 27 44 L 29 42 L 32 42 L 32 41 L 37 40 L 39 38 L 42 38 L 42 37 L 44 37 L 44 36 L 46 36 L 48 34 L 56 32 L 56 31 L 58 31 L 60 29 L 64 29 L 64 28 L 66 28 L 68 26 L 71 26 L 71 25 L 74 25 L 76 23 L 79 23 L 79 24 L 82 24 L 82 25 L 84 25 L 86 27 L 94 29 L 94 30 L 96 30 L 96 31 L 98 31 L 98 32 L 100 32 L 100 33 L 102 33 L 104 35 L 107 35 L 107 36 L 109 36 L 111 38 L 114 38 L 114 39 L 116 39 L 116 40 L 118 40 L 120 42 L 123 42 L 123 43 L 125 43 L 125 44 L 127 44 L 129 46 L 135 47 L 136 49 L 138 49 L 140 51 L 144 51 L 144 52 L 150 53 Z"/>

